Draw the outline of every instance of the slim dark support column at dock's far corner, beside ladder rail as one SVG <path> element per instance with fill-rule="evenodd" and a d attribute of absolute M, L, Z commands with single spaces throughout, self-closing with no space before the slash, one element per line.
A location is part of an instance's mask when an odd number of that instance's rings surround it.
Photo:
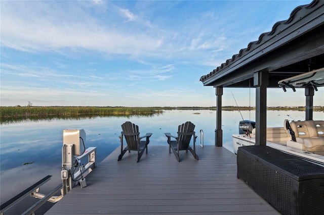
<path fill-rule="evenodd" d="M 223 146 L 222 95 L 223 95 L 223 87 L 216 87 L 216 130 L 215 130 L 215 146 Z"/>

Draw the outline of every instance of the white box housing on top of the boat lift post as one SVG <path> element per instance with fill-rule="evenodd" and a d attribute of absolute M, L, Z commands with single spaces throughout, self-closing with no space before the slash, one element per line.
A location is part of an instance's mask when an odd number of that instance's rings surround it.
<path fill-rule="evenodd" d="M 83 129 L 64 129 L 63 145 L 74 144 L 74 155 L 81 155 L 86 150 L 86 132 Z"/>

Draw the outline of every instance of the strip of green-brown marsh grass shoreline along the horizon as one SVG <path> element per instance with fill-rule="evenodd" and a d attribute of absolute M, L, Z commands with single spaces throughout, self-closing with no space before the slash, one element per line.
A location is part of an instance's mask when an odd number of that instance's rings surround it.
<path fill-rule="evenodd" d="M 323 106 L 313 106 L 313 111 L 324 112 Z M 0 117 L 30 117 L 30 116 L 77 116 L 77 115 L 141 115 L 163 113 L 164 110 L 216 110 L 211 107 L 123 107 L 123 106 L 0 106 Z M 248 106 L 222 106 L 224 111 L 255 110 Z M 305 111 L 305 106 L 298 107 L 268 107 L 274 111 Z"/>

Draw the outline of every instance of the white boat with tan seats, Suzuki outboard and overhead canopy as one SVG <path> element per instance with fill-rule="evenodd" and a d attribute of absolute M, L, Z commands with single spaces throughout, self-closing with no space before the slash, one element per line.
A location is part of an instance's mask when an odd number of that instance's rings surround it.
<path fill-rule="evenodd" d="M 286 87 L 304 88 L 324 86 L 324 68 L 280 80 L 278 85 L 286 91 Z M 239 122 L 239 133 L 233 134 L 233 151 L 238 147 L 255 145 L 255 122 L 243 120 Z M 324 166 L 324 120 L 289 121 L 285 119 L 282 127 L 266 129 L 266 144 L 280 151 L 307 159 Z"/>

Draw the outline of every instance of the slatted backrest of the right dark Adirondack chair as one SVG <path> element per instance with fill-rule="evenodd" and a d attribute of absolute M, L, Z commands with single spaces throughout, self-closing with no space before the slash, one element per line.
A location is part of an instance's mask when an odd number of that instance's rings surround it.
<path fill-rule="evenodd" d="M 194 132 L 195 125 L 191 122 L 185 122 L 178 127 L 179 150 L 187 149 Z"/>

